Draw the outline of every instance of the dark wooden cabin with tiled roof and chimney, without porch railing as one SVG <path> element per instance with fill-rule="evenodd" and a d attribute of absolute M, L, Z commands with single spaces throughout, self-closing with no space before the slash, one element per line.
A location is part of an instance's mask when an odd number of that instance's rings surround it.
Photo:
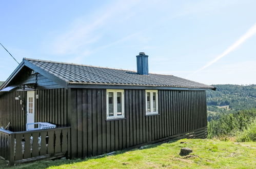
<path fill-rule="evenodd" d="M 9 123 L 16 133 L 26 131 L 28 122 L 70 127 L 71 158 L 204 138 L 205 91 L 214 87 L 148 73 L 148 56 L 136 58 L 137 72 L 24 58 L 0 88 L 0 126 Z"/>

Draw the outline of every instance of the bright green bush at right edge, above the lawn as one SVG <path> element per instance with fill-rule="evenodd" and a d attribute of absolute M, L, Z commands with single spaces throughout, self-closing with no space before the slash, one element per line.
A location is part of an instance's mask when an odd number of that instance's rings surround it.
<path fill-rule="evenodd" d="M 237 141 L 256 141 L 256 119 L 254 119 L 254 121 L 248 125 L 248 128 L 246 130 L 238 133 Z"/>

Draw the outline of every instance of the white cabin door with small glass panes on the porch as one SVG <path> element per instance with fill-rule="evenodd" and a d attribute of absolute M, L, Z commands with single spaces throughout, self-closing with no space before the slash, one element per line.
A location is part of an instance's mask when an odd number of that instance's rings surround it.
<path fill-rule="evenodd" d="M 35 91 L 27 91 L 27 123 L 33 123 L 35 117 Z M 28 129 L 34 129 L 34 125 L 28 125 Z"/>

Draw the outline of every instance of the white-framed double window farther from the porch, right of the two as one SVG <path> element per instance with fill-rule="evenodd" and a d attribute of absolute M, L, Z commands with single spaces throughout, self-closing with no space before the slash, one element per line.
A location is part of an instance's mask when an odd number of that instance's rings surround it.
<path fill-rule="evenodd" d="M 158 114 L 158 91 L 146 90 L 146 115 Z"/>

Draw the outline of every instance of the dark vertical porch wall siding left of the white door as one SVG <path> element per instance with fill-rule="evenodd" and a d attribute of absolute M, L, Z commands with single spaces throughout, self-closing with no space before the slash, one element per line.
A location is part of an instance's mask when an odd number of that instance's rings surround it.
<path fill-rule="evenodd" d="M 15 100 L 17 96 L 21 96 L 25 101 L 24 111 L 21 102 Z M 10 122 L 12 131 L 26 130 L 26 98 L 27 92 L 24 91 L 6 92 L 0 95 L 0 126 L 6 127 Z"/>

